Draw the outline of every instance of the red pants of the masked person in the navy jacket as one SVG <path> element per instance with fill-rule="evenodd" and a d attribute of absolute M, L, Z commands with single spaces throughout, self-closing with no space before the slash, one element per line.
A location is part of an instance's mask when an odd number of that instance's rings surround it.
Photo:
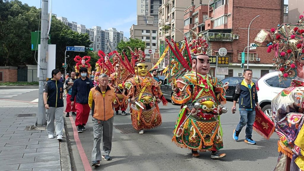
<path fill-rule="evenodd" d="M 76 103 L 77 115 L 75 119 L 76 126 L 85 126 L 88 122 L 89 114 L 90 114 L 90 106 L 89 104 Z"/>

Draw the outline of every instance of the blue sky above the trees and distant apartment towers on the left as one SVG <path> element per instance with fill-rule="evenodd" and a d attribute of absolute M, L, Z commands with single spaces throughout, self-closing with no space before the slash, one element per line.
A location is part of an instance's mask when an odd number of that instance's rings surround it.
<path fill-rule="evenodd" d="M 20 0 L 40 8 L 40 0 Z M 130 35 L 136 24 L 136 0 L 52 0 L 52 13 L 66 17 L 69 22 L 83 24 L 86 28 L 101 26 L 102 30 L 114 27 Z"/>

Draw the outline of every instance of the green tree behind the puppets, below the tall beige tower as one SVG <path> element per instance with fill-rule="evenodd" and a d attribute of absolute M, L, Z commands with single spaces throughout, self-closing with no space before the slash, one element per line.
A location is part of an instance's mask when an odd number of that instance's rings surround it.
<path fill-rule="evenodd" d="M 138 49 L 138 48 L 141 48 L 141 50 L 144 51 L 144 49 L 146 47 L 146 43 L 137 38 L 136 39 L 131 38 L 130 41 L 128 41 L 128 42 L 121 41 L 117 44 L 117 51 L 121 53 L 123 50 L 125 50 L 126 55 L 130 61 L 131 60 L 131 51 L 130 51 L 129 47 L 132 49 L 132 51 L 134 51 L 134 49 Z"/>

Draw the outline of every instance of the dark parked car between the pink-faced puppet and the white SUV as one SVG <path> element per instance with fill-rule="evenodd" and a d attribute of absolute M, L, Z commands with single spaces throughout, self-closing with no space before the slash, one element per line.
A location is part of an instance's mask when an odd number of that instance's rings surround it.
<path fill-rule="evenodd" d="M 237 87 L 237 84 L 243 81 L 243 79 L 244 77 L 227 77 L 222 80 L 223 83 L 229 82 L 228 89 L 226 90 L 226 99 L 233 100 L 235 88 Z M 256 83 L 257 79 L 252 78 L 252 81 Z"/>

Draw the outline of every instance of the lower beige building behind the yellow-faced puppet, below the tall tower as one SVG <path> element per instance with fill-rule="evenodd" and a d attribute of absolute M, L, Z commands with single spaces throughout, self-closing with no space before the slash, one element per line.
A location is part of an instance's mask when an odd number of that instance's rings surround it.
<path fill-rule="evenodd" d="M 130 28 L 130 38 L 139 39 L 146 43 L 145 54 L 148 68 L 152 68 L 154 59 L 153 55 L 157 52 L 157 26 L 151 25 L 132 25 Z"/>

